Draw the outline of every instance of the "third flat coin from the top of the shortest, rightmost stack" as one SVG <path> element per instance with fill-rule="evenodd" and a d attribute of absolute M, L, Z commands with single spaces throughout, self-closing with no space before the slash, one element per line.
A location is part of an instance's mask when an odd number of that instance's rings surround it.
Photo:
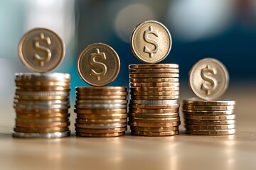
<path fill-rule="evenodd" d="M 234 114 L 233 110 L 228 111 L 191 111 L 183 110 L 184 115 L 231 115 Z"/>

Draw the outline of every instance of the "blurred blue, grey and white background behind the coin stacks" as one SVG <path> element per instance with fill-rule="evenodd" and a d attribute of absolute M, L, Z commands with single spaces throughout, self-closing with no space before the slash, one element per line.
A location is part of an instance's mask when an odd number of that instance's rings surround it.
<path fill-rule="evenodd" d="M 119 54 L 121 69 L 110 86 L 129 86 L 128 65 L 142 63 L 132 55 L 130 35 L 146 20 L 169 28 L 173 45 L 162 63 L 179 64 L 181 100 L 193 96 L 187 84 L 192 65 L 204 57 L 216 58 L 230 74 L 223 98 L 237 101 L 238 128 L 255 131 L 255 126 L 250 126 L 255 124 L 251 116 L 256 110 L 255 0 L 0 1 L 0 129 L 14 126 L 14 74 L 29 72 L 18 58 L 18 42 L 28 30 L 49 28 L 63 38 L 65 59 L 53 72 L 71 74 L 73 104 L 75 86 L 87 86 L 78 75 L 76 61 L 92 42 L 104 42 Z M 70 111 L 73 124 L 75 116 L 72 108 Z M 248 125 L 240 126 L 239 120 Z"/>

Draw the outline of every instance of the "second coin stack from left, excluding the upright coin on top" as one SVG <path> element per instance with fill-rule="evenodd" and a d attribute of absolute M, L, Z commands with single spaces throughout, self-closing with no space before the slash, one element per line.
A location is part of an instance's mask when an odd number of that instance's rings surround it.
<path fill-rule="evenodd" d="M 116 137 L 127 130 L 127 88 L 77 87 L 75 131 L 82 137 Z"/>

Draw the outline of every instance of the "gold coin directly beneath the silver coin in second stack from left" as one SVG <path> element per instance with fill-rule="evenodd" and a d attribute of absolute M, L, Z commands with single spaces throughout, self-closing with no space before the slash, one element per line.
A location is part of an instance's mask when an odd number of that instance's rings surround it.
<path fill-rule="evenodd" d="M 106 108 L 106 109 L 74 109 L 78 114 L 117 114 L 127 113 L 127 108 Z"/>

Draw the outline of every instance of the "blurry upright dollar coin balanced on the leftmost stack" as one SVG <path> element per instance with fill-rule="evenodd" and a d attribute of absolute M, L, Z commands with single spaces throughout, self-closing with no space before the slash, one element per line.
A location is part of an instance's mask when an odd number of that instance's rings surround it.
<path fill-rule="evenodd" d="M 65 44 L 52 30 L 35 28 L 21 38 L 18 55 L 28 69 L 49 72 L 63 61 Z"/>

